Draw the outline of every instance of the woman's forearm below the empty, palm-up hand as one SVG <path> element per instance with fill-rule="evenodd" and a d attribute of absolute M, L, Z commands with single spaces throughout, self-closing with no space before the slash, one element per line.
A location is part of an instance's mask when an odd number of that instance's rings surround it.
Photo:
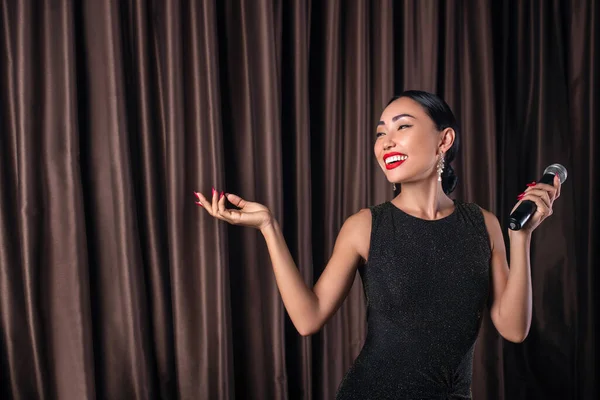
<path fill-rule="evenodd" d="M 261 233 L 267 242 L 275 281 L 288 315 L 300 334 L 311 334 L 319 325 L 318 298 L 300 275 L 277 221 L 273 220 Z"/>

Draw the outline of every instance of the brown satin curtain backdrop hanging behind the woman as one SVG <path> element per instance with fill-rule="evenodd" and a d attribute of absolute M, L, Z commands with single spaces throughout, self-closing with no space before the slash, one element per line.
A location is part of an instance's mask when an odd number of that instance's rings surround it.
<path fill-rule="evenodd" d="M 569 171 L 530 335 L 484 321 L 474 398 L 597 398 L 599 57 L 594 0 L 0 0 L 0 398 L 332 399 L 360 279 L 300 337 L 260 234 L 192 192 L 268 205 L 312 284 L 392 196 L 372 146 L 404 89 L 454 109 L 455 196 L 505 228 L 525 183 Z"/>

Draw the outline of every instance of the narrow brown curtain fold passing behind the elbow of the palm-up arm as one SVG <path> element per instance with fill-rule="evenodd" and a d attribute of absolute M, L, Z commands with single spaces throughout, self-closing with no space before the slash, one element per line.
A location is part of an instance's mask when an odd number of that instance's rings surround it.
<path fill-rule="evenodd" d="M 312 2 L 283 2 L 281 10 L 282 229 L 304 281 L 313 283 L 311 223 L 310 63 Z M 284 321 L 288 393 L 312 399 L 312 339 Z M 296 397 L 294 395 L 289 397 Z"/>

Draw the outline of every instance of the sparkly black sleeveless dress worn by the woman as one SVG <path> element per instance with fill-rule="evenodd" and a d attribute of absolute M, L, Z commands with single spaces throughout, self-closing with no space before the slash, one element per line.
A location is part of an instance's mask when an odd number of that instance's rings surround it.
<path fill-rule="evenodd" d="M 491 250 L 479 206 L 454 204 L 434 221 L 391 202 L 370 207 L 368 262 L 359 268 L 367 337 L 336 399 L 471 398 Z"/>

